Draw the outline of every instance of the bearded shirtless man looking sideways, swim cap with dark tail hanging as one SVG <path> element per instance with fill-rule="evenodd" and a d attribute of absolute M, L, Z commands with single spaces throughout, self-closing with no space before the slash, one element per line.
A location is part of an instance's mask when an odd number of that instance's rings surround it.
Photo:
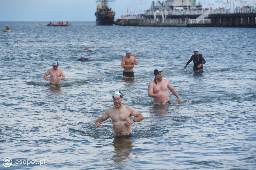
<path fill-rule="evenodd" d="M 176 90 L 171 86 L 167 79 L 163 79 L 163 71 L 158 68 L 154 70 L 154 74 L 155 79 L 148 84 L 148 96 L 154 98 L 153 101 L 155 103 L 169 104 L 168 88 L 177 97 L 178 103 L 181 104 L 181 100 Z"/>

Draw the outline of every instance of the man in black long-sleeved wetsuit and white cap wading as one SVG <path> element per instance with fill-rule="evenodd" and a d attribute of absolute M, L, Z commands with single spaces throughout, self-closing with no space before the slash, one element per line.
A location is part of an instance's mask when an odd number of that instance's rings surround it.
<path fill-rule="evenodd" d="M 184 66 L 184 68 L 187 68 L 187 65 L 193 60 L 194 62 L 194 69 L 193 71 L 201 70 L 203 69 L 203 64 L 206 63 L 204 56 L 202 54 L 198 54 L 198 49 L 194 49 L 194 55 L 191 56 L 191 58 L 188 60 L 187 64 Z"/>

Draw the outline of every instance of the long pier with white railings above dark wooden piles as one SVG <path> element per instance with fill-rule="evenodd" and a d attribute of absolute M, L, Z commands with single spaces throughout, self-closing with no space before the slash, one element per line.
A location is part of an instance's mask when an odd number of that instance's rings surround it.
<path fill-rule="evenodd" d="M 256 9 L 217 9 L 200 11 L 148 11 L 145 18 L 127 17 L 116 21 L 120 26 L 153 27 L 253 27 Z"/>

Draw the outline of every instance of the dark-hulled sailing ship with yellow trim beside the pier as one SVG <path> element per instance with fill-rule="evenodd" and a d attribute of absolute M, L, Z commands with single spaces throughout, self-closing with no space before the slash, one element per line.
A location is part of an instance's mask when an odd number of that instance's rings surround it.
<path fill-rule="evenodd" d="M 115 24 L 114 17 L 115 12 L 108 6 L 108 0 L 98 0 L 96 16 L 96 25 L 113 25 Z M 113 2 L 113 0 L 111 1 Z M 99 4 L 98 4 L 99 3 Z"/>

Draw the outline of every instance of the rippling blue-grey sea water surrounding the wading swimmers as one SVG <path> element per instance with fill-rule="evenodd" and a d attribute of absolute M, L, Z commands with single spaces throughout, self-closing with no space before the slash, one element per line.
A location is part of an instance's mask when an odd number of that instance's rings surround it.
<path fill-rule="evenodd" d="M 255 169 L 255 28 L 37 23 L 0 22 L 11 29 L 0 32 L 0 169 L 6 157 L 9 169 Z M 184 69 L 195 47 L 204 72 Z M 128 48 L 134 80 L 122 77 Z M 54 60 L 66 76 L 59 88 L 43 78 Z M 181 105 L 169 90 L 170 105 L 148 97 L 155 68 Z M 115 90 L 144 116 L 135 139 L 112 139 L 110 118 L 94 128 Z"/>

